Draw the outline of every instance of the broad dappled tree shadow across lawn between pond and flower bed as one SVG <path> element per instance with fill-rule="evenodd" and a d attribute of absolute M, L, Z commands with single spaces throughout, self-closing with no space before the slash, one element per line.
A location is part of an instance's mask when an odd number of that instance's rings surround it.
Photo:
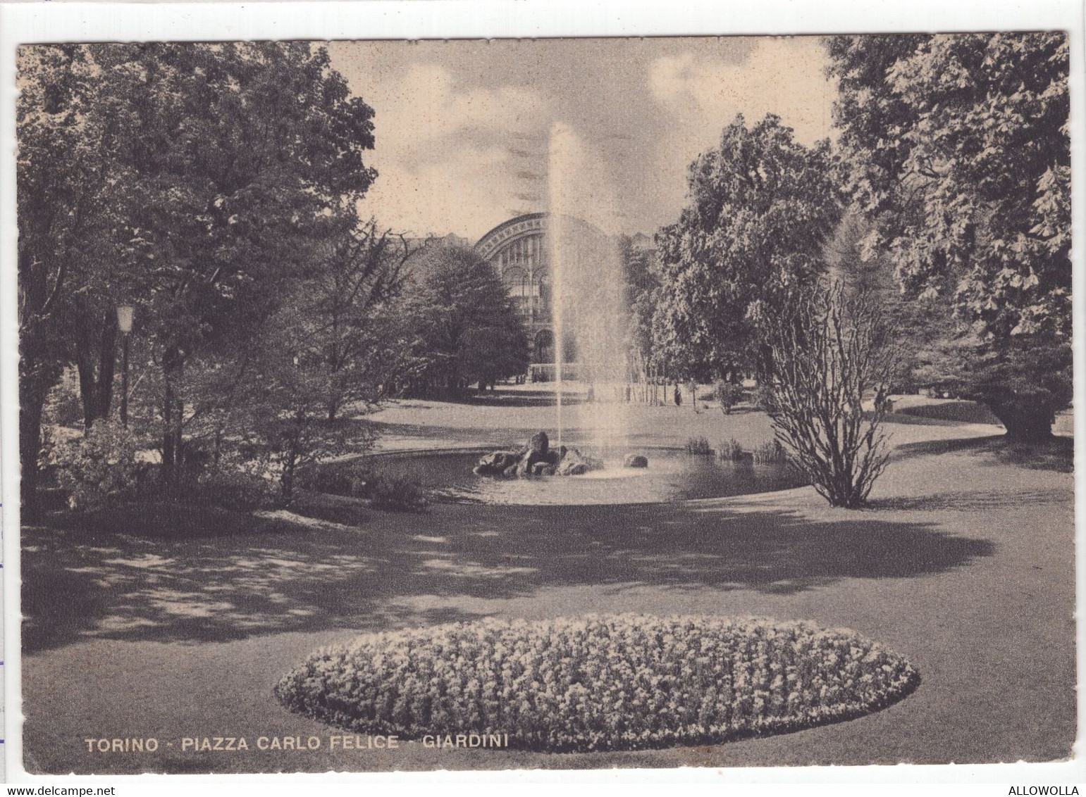
<path fill-rule="evenodd" d="M 197 517 L 214 527 L 152 538 L 62 517 L 25 528 L 24 651 L 88 637 L 202 642 L 429 625 L 475 617 L 473 600 L 555 587 L 787 594 L 940 573 L 994 552 L 934 524 L 812 522 L 728 504 L 442 505 L 372 513 L 357 527 L 290 513 Z"/>

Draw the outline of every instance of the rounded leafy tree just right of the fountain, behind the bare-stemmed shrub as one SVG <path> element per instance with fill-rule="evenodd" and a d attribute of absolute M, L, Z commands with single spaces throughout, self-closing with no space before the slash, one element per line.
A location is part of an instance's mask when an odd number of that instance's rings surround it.
<path fill-rule="evenodd" d="M 828 141 L 798 143 L 779 117 L 742 116 L 690 167 L 689 204 L 656 235 L 658 355 L 675 376 L 765 372 L 759 324 L 824 270 L 841 215 Z"/>

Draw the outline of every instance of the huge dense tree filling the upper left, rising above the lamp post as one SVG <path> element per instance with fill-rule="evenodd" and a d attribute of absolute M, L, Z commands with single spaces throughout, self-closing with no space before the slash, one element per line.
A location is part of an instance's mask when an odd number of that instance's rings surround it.
<path fill-rule="evenodd" d="M 84 258 L 93 269 L 81 279 L 64 273 L 54 306 L 65 311 L 53 313 L 50 332 L 72 342 L 68 357 L 85 394 L 100 397 L 85 395 L 90 423 L 109 410 L 114 306 L 136 305 L 139 331 L 163 370 L 168 476 L 181 445 L 186 361 L 224 340 L 244 345 L 281 301 L 283 280 L 307 268 L 329 234 L 354 226 L 355 202 L 376 177 L 363 162 L 374 143 L 372 111 L 350 94 L 325 49 L 308 43 L 89 44 L 62 52 L 66 62 L 41 56 L 49 69 L 28 56 L 22 76 L 31 88 L 18 130 L 21 150 L 28 147 L 20 162 L 24 317 L 42 317 L 33 310 L 42 301 L 29 295 L 41 293 L 38 271 L 62 272 L 58 242 L 64 252 L 73 247 L 62 234 L 42 232 L 22 196 L 62 219 L 93 208 L 108 234 Z M 42 113 L 58 77 L 73 86 L 67 103 L 76 110 Z M 42 131 L 86 153 L 88 166 L 77 170 L 62 159 L 54 171 L 65 182 L 39 179 L 48 167 L 35 149 Z M 39 190 L 24 192 L 24 175 Z M 83 352 L 87 340 L 98 350 Z M 35 358 L 55 362 L 50 352 Z M 28 361 L 25 369 L 37 367 Z M 24 454 L 26 467 L 31 454 Z"/>

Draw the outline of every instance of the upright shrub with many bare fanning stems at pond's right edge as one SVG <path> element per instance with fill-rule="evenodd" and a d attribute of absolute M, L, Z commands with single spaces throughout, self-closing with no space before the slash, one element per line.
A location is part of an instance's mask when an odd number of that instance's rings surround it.
<path fill-rule="evenodd" d="M 889 457 L 881 423 L 898 352 L 884 324 L 877 305 L 838 285 L 797 298 L 767 335 L 773 430 L 832 506 L 862 504 Z"/>

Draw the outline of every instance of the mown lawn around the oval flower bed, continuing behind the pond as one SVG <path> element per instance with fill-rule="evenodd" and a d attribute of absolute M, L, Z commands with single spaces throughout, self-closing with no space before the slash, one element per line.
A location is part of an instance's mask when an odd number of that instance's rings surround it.
<path fill-rule="evenodd" d="M 582 406 L 569 434 L 588 426 Z M 644 445 L 769 436 L 760 413 L 636 407 Z M 405 402 L 390 449 L 498 444 L 553 410 Z M 870 509 L 810 488 L 674 504 L 434 504 L 345 523 L 134 507 L 114 525 L 24 528 L 25 766 L 31 772 L 774 766 L 1052 760 L 1075 737 L 1070 439 L 1008 448 L 959 413 L 910 413 Z M 155 512 L 159 514 L 156 515 Z M 203 514 L 201 514 L 203 513 Z M 185 524 L 179 522 L 179 515 Z M 757 615 L 848 627 L 906 657 L 919 689 L 860 719 L 716 746 L 543 754 L 336 749 L 273 687 L 363 631 L 484 616 Z M 315 735 L 317 750 L 255 749 Z M 248 751 L 182 737 L 244 736 Z M 154 754 L 87 738 L 156 737 Z M 172 746 L 167 746 L 171 743 Z"/>

